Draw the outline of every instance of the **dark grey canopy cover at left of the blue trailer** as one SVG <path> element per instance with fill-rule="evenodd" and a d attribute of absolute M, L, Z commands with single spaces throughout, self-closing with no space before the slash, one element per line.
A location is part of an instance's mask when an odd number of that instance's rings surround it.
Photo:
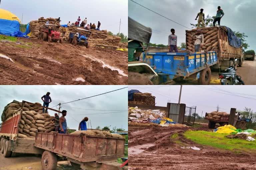
<path fill-rule="evenodd" d="M 128 17 L 128 38 L 139 42 L 149 43 L 152 29 L 145 27 L 137 21 Z"/>

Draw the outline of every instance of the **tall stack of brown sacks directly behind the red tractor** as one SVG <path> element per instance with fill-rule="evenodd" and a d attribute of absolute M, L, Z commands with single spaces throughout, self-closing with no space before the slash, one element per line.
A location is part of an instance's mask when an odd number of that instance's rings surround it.
<path fill-rule="evenodd" d="M 29 23 L 29 30 L 30 30 L 30 39 L 37 39 L 40 37 L 40 28 L 43 28 L 46 22 L 49 21 L 49 24 L 52 25 L 60 25 L 59 22 L 57 22 L 54 18 L 44 18 L 40 17 L 38 20 L 31 21 Z"/>

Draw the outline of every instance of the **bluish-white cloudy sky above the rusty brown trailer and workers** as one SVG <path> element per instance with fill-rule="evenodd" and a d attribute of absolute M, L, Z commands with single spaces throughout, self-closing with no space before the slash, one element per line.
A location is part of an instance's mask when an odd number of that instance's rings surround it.
<path fill-rule="evenodd" d="M 122 85 L 1 85 L 0 86 L 0 114 L 2 115 L 4 107 L 12 102 L 28 101 L 40 102 L 43 104 L 41 97 L 50 92 L 52 102 L 49 107 L 53 107 L 58 103 L 70 102 L 100 93 L 120 89 L 126 86 Z M 127 88 L 111 92 L 108 94 L 84 99 L 77 102 L 63 104 L 61 111 L 67 111 L 67 125 L 69 128 L 78 129 L 79 122 L 84 117 L 88 117 L 91 121 L 92 128 L 100 126 L 111 126 L 110 128 L 128 129 L 127 107 L 128 107 Z M 72 107 L 72 108 L 71 108 Z M 80 108 L 80 109 L 77 109 Z M 58 110 L 58 107 L 53 109 Z M 94 109 L 94 110 L 82 110 Z M 104 111 L 95 111 L 104 110 Z M 116 113 L 113 113 L 116 112 Z M 49 111 L 54 116 L 54 111 Z M 88 121 L 88 122 L 89 122 Z M 87 123 L 88 123 L 87 122 Z"/>

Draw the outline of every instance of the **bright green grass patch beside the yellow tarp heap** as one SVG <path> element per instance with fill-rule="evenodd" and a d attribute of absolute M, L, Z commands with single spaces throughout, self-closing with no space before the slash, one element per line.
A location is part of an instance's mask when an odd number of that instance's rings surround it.
<path fill-rule="evenodd" d="M 235 152 L 256 152 L 256 141 L 247 141 L 244 139 L 230 139 L 225 137 L 228 134 L 214 133 L 208 131 L 188 130 L 184 136 L 196 143 L 208 145 L 220 149 L 231 150 Z"/>

